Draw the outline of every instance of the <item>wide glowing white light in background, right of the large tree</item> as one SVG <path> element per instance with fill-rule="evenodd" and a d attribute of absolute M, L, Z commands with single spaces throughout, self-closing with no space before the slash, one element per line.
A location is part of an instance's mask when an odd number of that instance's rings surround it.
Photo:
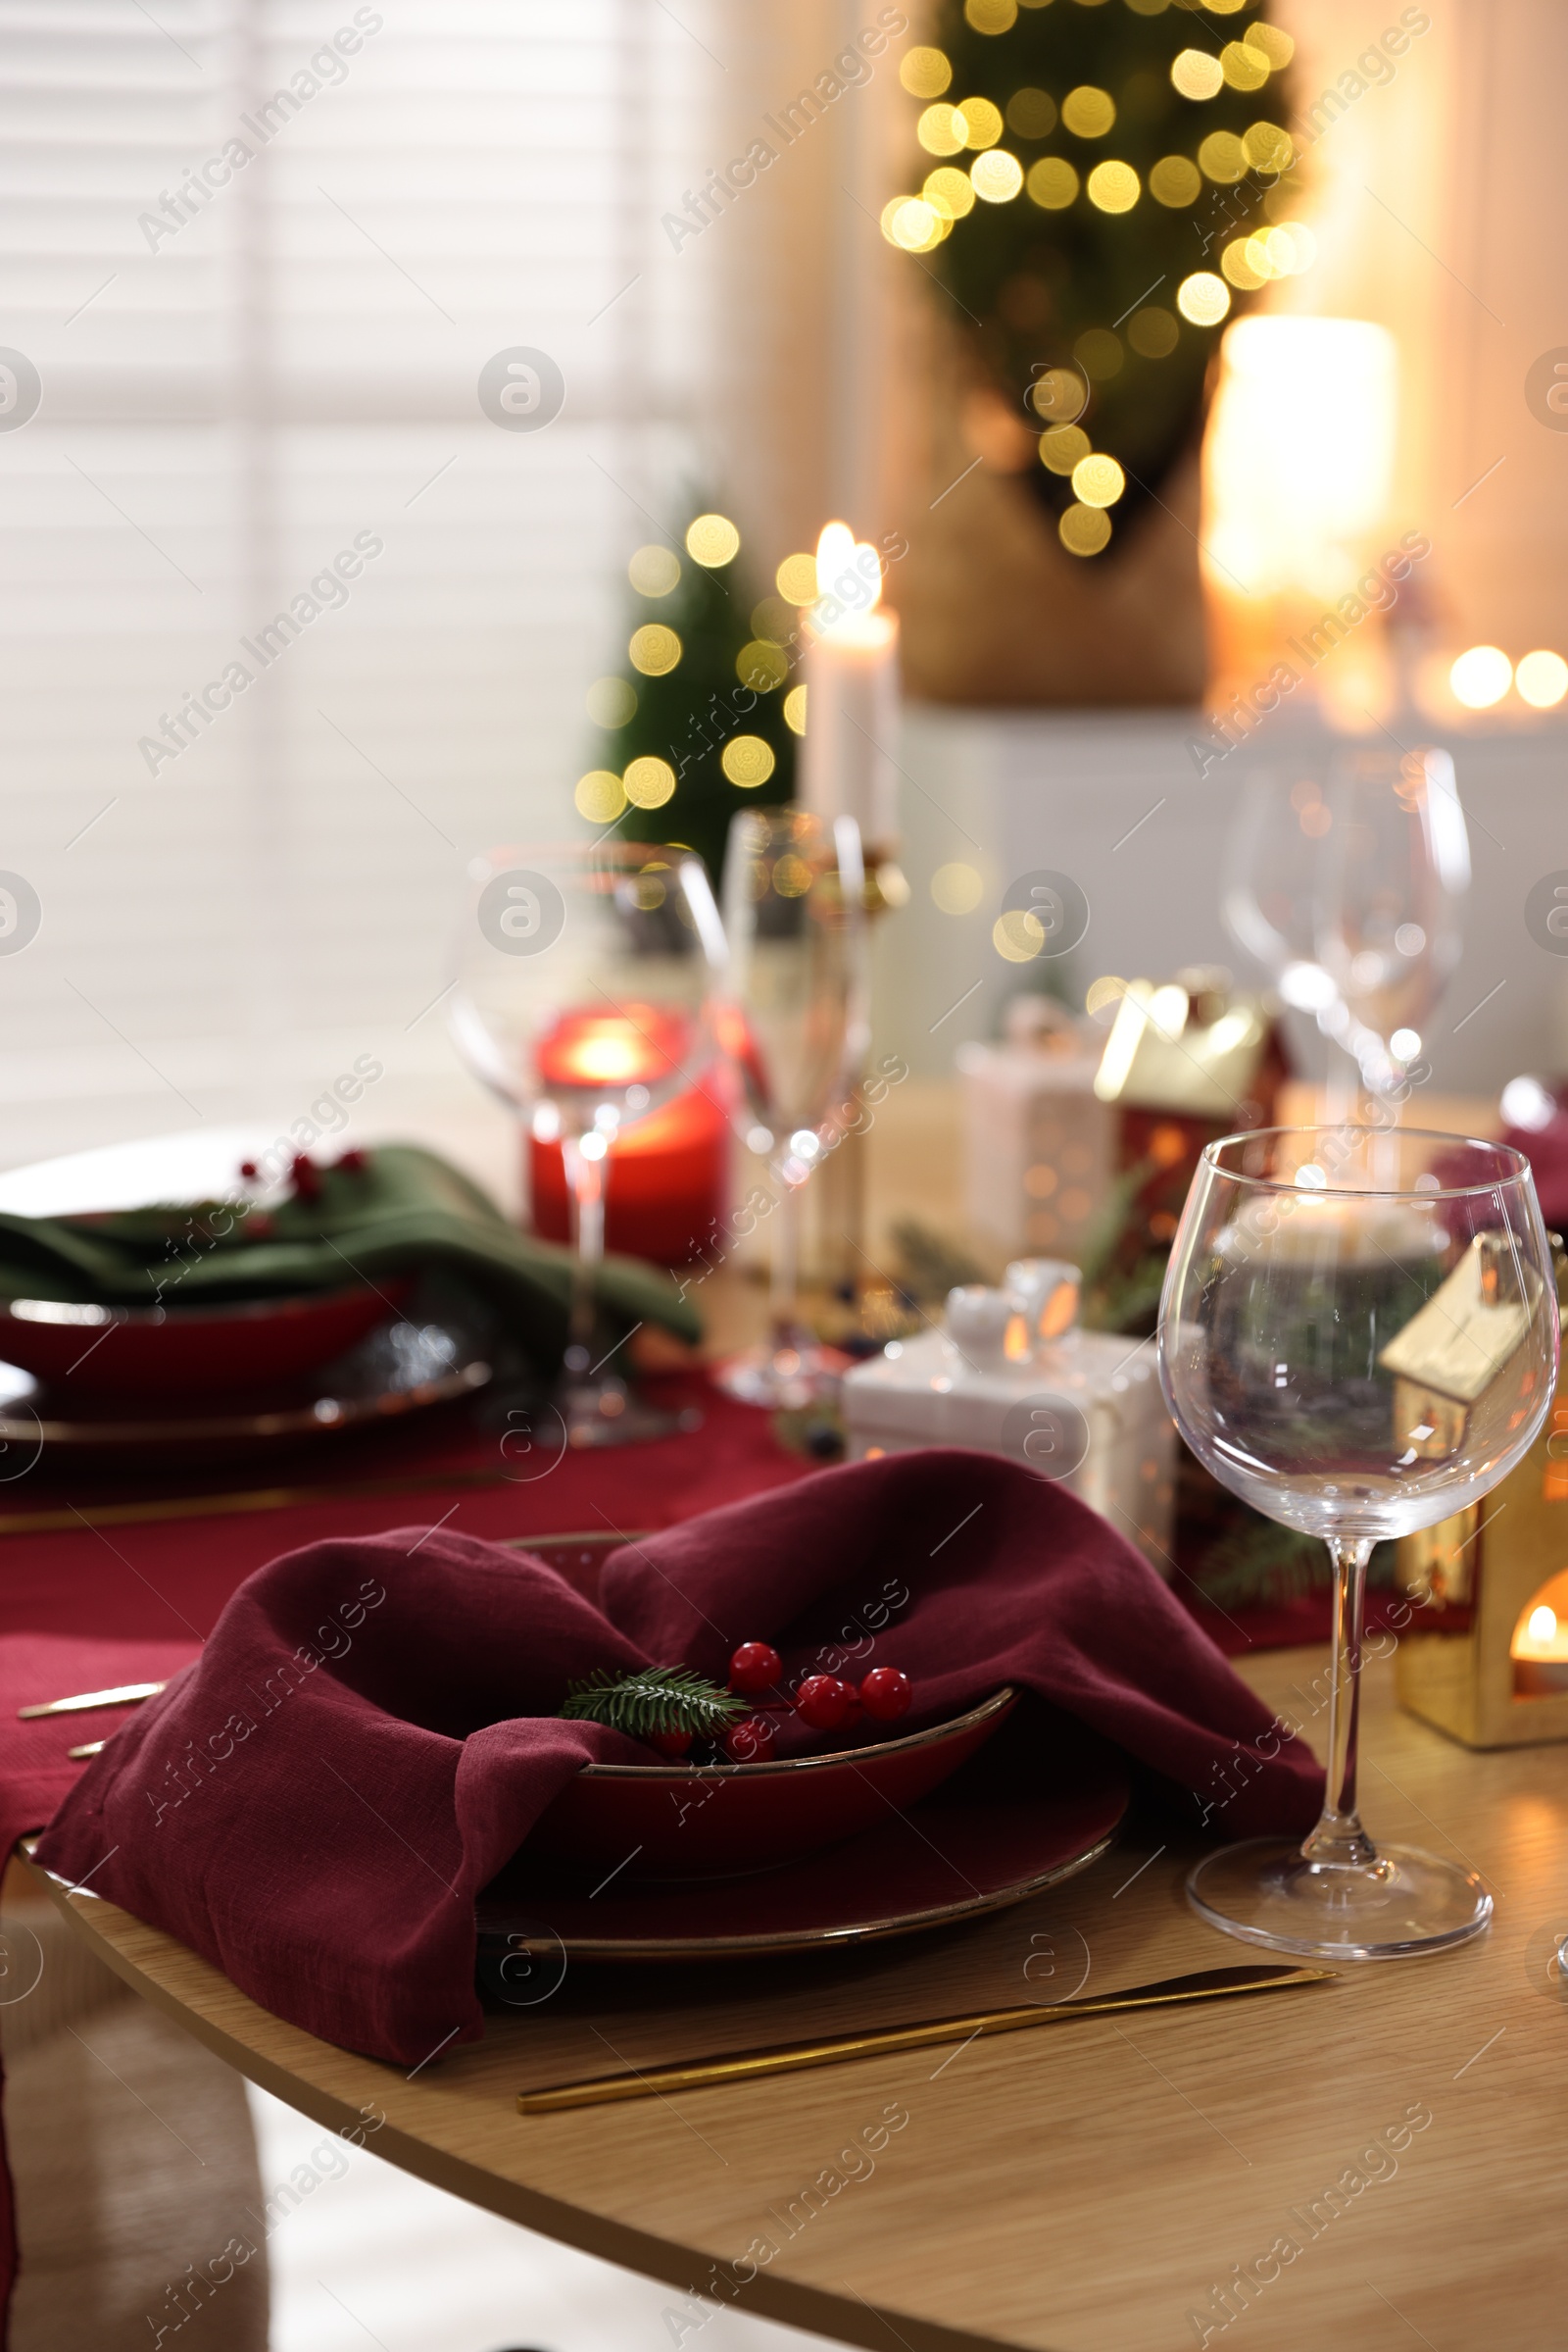
<path fill-rule="evenodd" d="M 1204 447 L 1206 564 L 1248 600 L 1354 586 L 1394 475 L 1394 336 L 1359 318 L 1241 318 Z"/>

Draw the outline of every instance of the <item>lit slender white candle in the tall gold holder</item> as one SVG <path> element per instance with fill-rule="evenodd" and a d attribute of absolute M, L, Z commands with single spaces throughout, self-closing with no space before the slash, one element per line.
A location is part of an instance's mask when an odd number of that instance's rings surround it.
<path fill-rule="evenodd" d="M 867 851 L 898 837 L 898 616 L 877 612 L 882 562 L 844 522 L 816 548 L 818 600 L 806 619 L 802 802 L 853 816 Z"/>

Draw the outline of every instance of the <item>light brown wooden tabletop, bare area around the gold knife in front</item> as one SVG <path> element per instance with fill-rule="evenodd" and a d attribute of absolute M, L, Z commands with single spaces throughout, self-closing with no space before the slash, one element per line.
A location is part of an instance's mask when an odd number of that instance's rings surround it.
<path fill-rule="evenodd" d="M 1321 1670 L 1316 1651 L 1244 1668 L 1319 1748 Z M 701 2338 L 691 2293 L 722 2279 L 724 2300 L 870 2352 L 1547 2352 L 1568 2310 L 1568 1999 L 1547 1973 L 1568 1931 L 1568 1748 L 1467 1755 L 1394 1710 L 1385 1661 L 1366 1670 L 1363 1757 L 1373 1832 L 1486 1875 L 1497 1917 L 1479 1943 L 677 2103 L 520 2117 L 527 2016 L 404 2079 L 282 2025 L 92 1893 L 56 1900 L 263 2089 L 331 2129 L 383 2112 L 378 2154 L 668 2279 L 675 2352 Z M 1006 1915 L 1020 1985 L 1041 1950 L 1044 1997 L 1074 1990 L 1084 1952 L 1095 1990 L 1246 1957 L 1187 1912 L 1175 1846 L 1145 1858 L 1147 1839 L 1124 1844 Z M 748 2277 L 759 2239 L 776 2253 Z M 1300 2251 L 1281 2260 L 1279 2239 Z M 1253 2284 L 1222 2324 L 1234 2265 Z"/>

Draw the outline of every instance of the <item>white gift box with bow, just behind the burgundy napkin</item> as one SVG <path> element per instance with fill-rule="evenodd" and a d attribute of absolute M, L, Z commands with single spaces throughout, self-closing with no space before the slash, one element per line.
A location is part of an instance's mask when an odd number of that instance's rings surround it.
<path fill-rule="evenodd" d="M 978 1446 L 1056 1477 L 1171 1576 L 1175 1430 L 1154 1341 L 1079 1331 L 1077 1268 L 1009 1265 L 961 1289 L 940 1329 L 844 1374 L 849 1458 Z"/>

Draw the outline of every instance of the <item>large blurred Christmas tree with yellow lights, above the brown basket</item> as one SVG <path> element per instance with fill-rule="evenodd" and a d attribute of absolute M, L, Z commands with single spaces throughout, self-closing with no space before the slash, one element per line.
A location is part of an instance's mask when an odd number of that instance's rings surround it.
<path fill-rule="evenodd" d="M 1293 42 L 1244 0 L 938 0 L 933 24 L 900 66 L 926 176 L 882 230 L 931 254 L 997 405 L 1039 430 L 1020 463 L 1063 546 L 1098 555 L 1192 445 L 1237 296 L 1312 261 Z"/>

